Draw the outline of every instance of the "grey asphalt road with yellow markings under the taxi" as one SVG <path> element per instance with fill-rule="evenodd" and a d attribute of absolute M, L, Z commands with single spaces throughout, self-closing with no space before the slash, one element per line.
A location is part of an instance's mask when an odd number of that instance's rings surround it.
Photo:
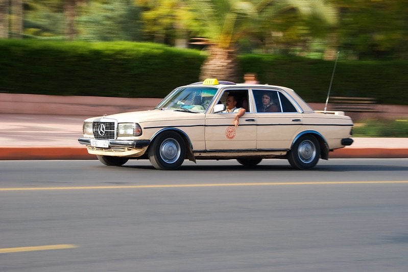
<path fill-rule="evenodd" d="M 407 162 L 0 161 L 0 271 L 406 271 Z"/>

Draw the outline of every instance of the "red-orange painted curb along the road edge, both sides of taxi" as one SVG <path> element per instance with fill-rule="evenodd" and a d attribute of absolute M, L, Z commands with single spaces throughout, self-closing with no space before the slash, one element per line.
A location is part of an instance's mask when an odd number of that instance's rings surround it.
<path fill-rule="evenodd" d="M 347 147 L 329 153 L 329 158 L 408 158 L 408 147 Z M 0 160 L 95 160 L 85 146 L 5 146 Z"/>

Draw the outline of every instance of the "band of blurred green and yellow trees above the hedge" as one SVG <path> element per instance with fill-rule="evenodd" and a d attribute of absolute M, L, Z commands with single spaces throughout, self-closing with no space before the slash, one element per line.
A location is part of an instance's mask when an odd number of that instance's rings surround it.
<path fill-rule="evenodd" d="M 76 39 L 175 45 L 229 26 L 241 53 L 408 59 L 406 0 L 23 0 L 26 37 L 64 39 L 68 2 Z"/>

